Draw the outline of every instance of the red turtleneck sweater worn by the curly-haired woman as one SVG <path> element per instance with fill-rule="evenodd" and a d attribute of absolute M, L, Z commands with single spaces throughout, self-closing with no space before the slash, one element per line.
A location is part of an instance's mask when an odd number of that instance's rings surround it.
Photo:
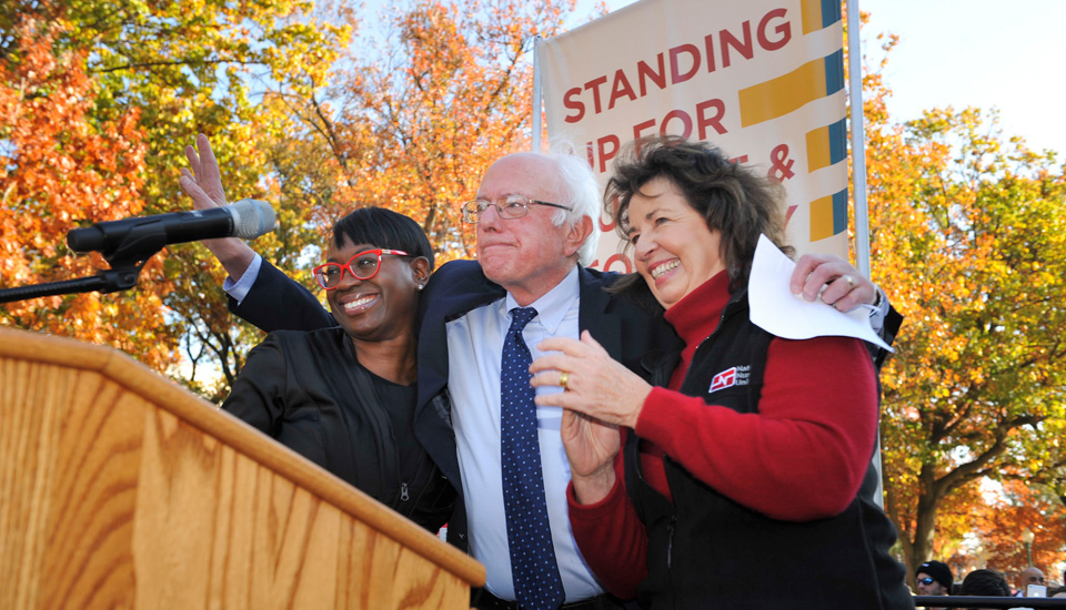
<path fill-rule="evenodd" d="M 774 338 L 757 414 L 682 395 L 677 388 L 692 356 L 728 302 L 727 283 L 720 273 L 666 311 L 685 348 L 668 388 L 654 388 L 637 419 L 644 478 L 670 497 L 665 453 L 697 479 L 768 517 L 804 521 L 837 515 L 858 492 L 877 433 L 869 354 L 849 337 Z M 614 467 L 614 488 L 597 504 L 579 505 L 571 485 L 570 521 L 596 577 L 628 599 L 647 573 L 647 538 L 625 494 L 621 454 Z"/>

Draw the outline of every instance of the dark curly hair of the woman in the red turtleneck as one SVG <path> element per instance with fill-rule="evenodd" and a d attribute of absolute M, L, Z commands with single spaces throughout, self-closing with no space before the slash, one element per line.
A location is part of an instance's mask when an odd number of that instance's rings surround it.
<path fill-rule="evenodd" d="M 706 220 L 707 228 L 721 233 L 720 255 L 730 274 L 731 292 L 747 282 L 761 234 L 792 254 L 793 248 L 783 242 L 781 185 L 730 161 L 713 144 L 674 135 L 631 142 L 615 162 L 603 197 L 626 248 L 631 245 L 630 201 L 656 177 L 665 177 L 676 186 L 688 205 Z M 638 275 L 620 279 L 617 289 L 624 291 L 638 279 Z"/>

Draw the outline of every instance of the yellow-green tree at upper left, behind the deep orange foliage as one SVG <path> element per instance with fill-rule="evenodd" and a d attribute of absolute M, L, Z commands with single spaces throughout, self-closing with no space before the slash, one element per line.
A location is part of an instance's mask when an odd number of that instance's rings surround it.
<path fill-rule="evenodd" d="M 49 44 L 62 57 L 77 58 L 71 60 L 77 63 L 71 69 L 88 79 L 92 94 L 81 108 L 86 122 L 92 126 L 123 124 L 139 133 L 137 155 L 128 160 L 129 164 L 139 164 L 137 175 L 131 174 L 137 181 L 137 207 L 114 206 L 109 203 L 112 195 L 101 191 L 104 185 L 81 183 L 79 174 L 70 174 L 70 187 L 83 194 L 77 201 L 81 212 L 70 214 L 71 222 L 187 209 L 177 187 L 178 170 L 184 164 L 184 144 L 198 132 L 214 136 L 231 191 L 238 196 L 260 194 L 270 170 L 258 141 L 269 135 L 265 130 L 283 129 L 283 123 L 264 120 L 258 102 L 279 83 L 293 83 L 293 88 L 321 85 L 336 49 L 346 44 L 350 33 L 345 24 L 318 19 L 310 0 L 14 0 L 9 4 L 12 11 L 0 18 L 0 64 L 14 70 L 21 61 L 21 38 L 13 30 L 18 19 L 51 23 Z M 58 101 L 58 96 L 52 100 Z M 61 142 L 56 140 L 57 144 Z M 124 160 L 128 151 L 120 139 L 104 145 Z M 33 172 L 37 162 L 21 154 L 18 171 Z M 37 240 L 62 243 L 61 232 L 42 228 L 46 232 Z M 143 316 L 153 321 L 160 334 L 154 345 L 160 349 L 173 352 L 184 338 L 181 344 L 193 362 L 208 350 L 212 365 L 228 373 L 239 367 L 239 355 L 258 333 L 234 325 L 224 315 L 224 295 L 217 288 L 221 272 L 210 261 L 198 245 L 168 248 L 145 270 L 167 278 L 168 289 L 157 291 L 160 298 L 152 306 L 135 307 L 140 314 L 125 314 L 130 319 Z M 144 289 L 152 288 L 142 275 L 138 288 L 115 298 L 132 305 L 139 298 L 133 293 Z M 72 315 L 81 313 L 84 317 Z M 71 312 L 47 304 L 37 308 L 37 316 L 28 327 L 105 322 L 94 318 L 93 312 Z M 214 340 L 205 343 L 208 338 Z M 145 357 L 137 346 L 108 343 L 160 370 L 167 368 L 164 360 Z M 218 395 L 220 390 L 205 392 Z"/>

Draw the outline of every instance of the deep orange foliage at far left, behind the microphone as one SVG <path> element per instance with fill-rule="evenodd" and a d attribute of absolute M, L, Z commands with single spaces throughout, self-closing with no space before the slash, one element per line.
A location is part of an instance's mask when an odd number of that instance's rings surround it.
<path fill-rule="evenodd" d="M 94 124 L 84 58 L 57 55 L 56 33 L 27 21 L 17 59 L 0 64 L 0 281 L 6 287 L 108 268 L 99 255 L 79 257 L 67 250 L 67 231 L 81 221 L 137 214 L 143 206 L 145 146 L 137 111 Z M 168 288 L 157 256 L 129 294 L 11 303 L 0 309 L 0 324 L 109 344 L 159 369 L 174 359 L 160 301 Z"/>

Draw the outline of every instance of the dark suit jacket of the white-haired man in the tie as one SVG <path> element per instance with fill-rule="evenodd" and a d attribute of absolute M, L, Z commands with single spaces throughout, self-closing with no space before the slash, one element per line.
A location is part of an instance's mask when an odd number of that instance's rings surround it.
<path fill-rule="evenodd" d="M 674 348 L 678 339 L 661 314 L 650 313 L 627 297 L 604 291 L 617 277 L 616 273 L 579 270 L 577 324 L 582 331 L 591 332 L 614 359 L 646 378 L 648 370 L 642 365 L 645 354 Z M 419 307 L 419 401 L 414 431 L 455 487 L 459 499 L 449 522 L 447 539 L 463 550 L 466 550 L 466 511 L 447 398 L 445 324 L 505 294 L 502 286 L 485 277 L 475 261 L 453 261 L 432 275 Z M 266 332 L 335 325 L 314 295 L 265 261 L 248 296 L 240 305 L 231 299 L 230 309 Z"/>

